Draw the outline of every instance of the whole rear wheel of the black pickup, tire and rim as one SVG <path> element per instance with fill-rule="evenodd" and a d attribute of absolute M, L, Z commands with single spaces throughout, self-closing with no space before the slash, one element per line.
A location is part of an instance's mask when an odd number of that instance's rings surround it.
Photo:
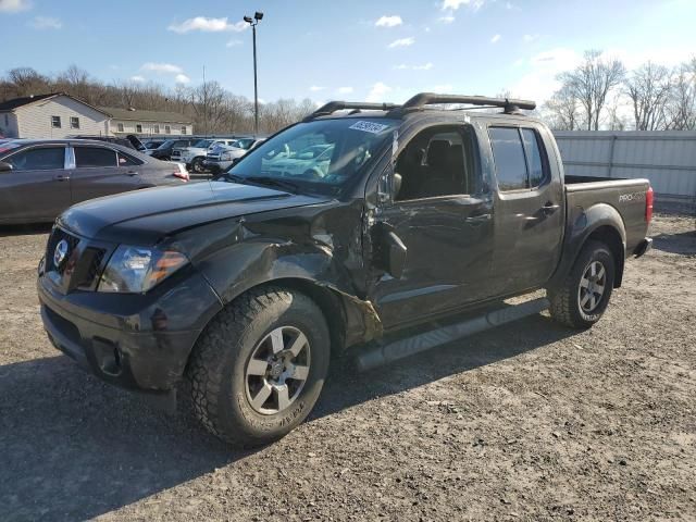
<path fill-rule="evenodd" d="M 611 250 L 587 241 L 558 288 L 549 289 L 551 316 L 573 328 L 588 328 L 601 319 L 613 288 L 616 269 Z"/>

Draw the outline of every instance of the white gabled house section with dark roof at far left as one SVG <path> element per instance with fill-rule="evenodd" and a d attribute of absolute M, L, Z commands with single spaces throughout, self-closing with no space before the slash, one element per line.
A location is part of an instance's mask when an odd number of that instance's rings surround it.
<path fill-rule="evenodd" d="M 72 96 L 14 98 L 0 103 L 0 135 L 10 138 L 65 138 L 108 134 L 110 115 Z"/>

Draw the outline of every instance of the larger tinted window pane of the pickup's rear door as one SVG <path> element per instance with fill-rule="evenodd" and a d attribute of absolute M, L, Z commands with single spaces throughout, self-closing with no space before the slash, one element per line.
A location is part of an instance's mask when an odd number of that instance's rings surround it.
<path fill-rule="evenodd" d="M 517 127 L 490 127 L 490 146 L 498 188 L 502 191 L 529 188 L 524 149 Z"/>

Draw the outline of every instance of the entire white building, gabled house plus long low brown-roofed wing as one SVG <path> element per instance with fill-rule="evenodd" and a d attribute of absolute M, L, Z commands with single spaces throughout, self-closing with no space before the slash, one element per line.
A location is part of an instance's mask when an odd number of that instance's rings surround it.
<path fill-rule="evenodd" d="M 87 136 L 178 136 L 194 134 L 190 119 L 175 112 L 91 107 L 64 92 L 0 102 L 0 136 L 66 138 Z"/>

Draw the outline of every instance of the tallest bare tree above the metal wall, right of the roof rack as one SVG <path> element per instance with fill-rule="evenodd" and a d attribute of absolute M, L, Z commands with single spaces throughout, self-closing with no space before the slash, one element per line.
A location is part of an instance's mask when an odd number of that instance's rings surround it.
<path fill-rule="evenodd" d="M 599 129 L 607 96 L 625 74 L 621 61 L 604 59 L 601 51 L 585 51 L 584 61 L 574 71 L 561 73 L 559 79 L 570 89 L 585 112 L 587 130 Z"/>

